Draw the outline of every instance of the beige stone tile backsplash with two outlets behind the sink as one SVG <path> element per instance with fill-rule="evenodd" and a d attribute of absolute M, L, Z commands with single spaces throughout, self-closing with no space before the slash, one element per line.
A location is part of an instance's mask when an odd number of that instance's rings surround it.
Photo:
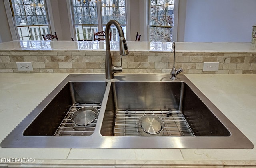
<path fill-rule="evenodd" d="M 176 52 L 175 67 L 184 73 L 256 74 L 256 52 Z M 113 64 L 120 66 L 118 51 Z M 170 73 L 173 54 L 130 51 L 122 56 L 124 73 Z M 32 62 L 34 71 L 18 71 L 16 62 Z M 204 72 L 203 62 L 219 62 L 218 71 Z M 0 73 L 104 73 L 105 51 L 0 51 Z"/>

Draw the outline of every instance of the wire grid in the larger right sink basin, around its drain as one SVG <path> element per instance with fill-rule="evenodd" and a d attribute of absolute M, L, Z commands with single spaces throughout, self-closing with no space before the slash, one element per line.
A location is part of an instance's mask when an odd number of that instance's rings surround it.
<path fill-rule="evenodd" d="M 145 114 L 154 114 L 164 122 L 164 129 L 148 134 L 139 124 Z M 180 110 L 169 111 L 117 111 L 114 136 L 195 136 Z"/>

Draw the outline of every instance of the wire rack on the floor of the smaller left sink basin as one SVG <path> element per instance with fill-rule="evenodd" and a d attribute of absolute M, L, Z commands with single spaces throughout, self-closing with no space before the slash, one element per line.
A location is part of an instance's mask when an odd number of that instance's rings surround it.
<path fill-rule="evenodd" d="M 74 112 L 82 107 L 92 106 L 98 110 L 98 114 L 95 120 L 87 124 L 85 126 L 78 126 L 76 123 L 72 121 L 72 115 Z M 89 103 L 75 103 L 68 109 L 68 113 L 62 120 L 60 126 L 58 127 L 57 131 L 55 132 L 54 136 L 90 136 L 95 129 L 98 115 L 100 111 L 101 104 L 89 104 Z"/>

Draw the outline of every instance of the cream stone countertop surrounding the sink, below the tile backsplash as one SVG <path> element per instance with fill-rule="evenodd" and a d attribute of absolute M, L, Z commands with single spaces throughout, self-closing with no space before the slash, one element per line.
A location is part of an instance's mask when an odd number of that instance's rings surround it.
<path fill-rule="evenodd" d="M 256 145 L 256 75 L 185 74 Z M 2 141 L 68 74 L 0 74 Z M 70 142 L 72 143 L 72 142 Z M 254 149 L 0 148 L 0 167 L 48 164 L 118 167 L 133 165 L 254 165 Z M 9 159 L 9 160 L 7 160 Z M 13 159 L 13 160 L 10 160 Z M 15 160 L 16 159 L 16 160 Z M 34 160 L 33 160 L 34 159 Z M 17 162 L 15 162 L 17 161 Z M 20 160 L 22 162 L 22 160 Z M 33 167 L 33 166 L 32 166 Z M 71 167 L 71 166 L 70 166 Z M 125 166 L 124 166 L 125 167 Z"/>

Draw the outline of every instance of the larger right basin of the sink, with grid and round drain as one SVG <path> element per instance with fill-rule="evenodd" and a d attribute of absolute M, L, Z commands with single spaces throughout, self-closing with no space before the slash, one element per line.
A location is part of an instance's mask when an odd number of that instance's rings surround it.
<path fill-rule="evenodd" d="M 101 134 L 230 136 L 210 107 L 182 81 L 112 82 Z"/>

